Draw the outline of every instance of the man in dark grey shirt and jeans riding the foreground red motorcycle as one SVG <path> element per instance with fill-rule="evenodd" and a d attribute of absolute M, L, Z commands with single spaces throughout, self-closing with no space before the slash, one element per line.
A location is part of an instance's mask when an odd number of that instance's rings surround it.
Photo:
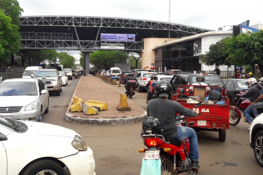
<path fill-rule="evenodd" d="M 200 165 L 198 162 L 199 154 L 196 132 L 190 127 L 177 126 L 176 113 L 188 117 L 196 117 L 199 111 L 193 111 L 176 101 L 169 100 L 172 91 L 172 85 L 168 81 L 160 80 L 157 82 L 155 85 L 155 95 L 157 98 L 149 101 L 147 105 L 147 117 L 158 118 L 167 136 L 171 136 L 179 141 L 186 138 L 189 139 L 191 168 L 198 169 Z"/>

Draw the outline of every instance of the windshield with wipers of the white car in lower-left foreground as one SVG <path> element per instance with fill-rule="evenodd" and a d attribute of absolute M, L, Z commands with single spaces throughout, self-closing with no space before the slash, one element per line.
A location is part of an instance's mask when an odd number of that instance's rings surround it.
<path fill-rule="evenodd" d="M 25 125 L 23 122 L 11 119 L 0 119 L 0 127 L 18 133 L 27 131 L 27 125 Z"/>

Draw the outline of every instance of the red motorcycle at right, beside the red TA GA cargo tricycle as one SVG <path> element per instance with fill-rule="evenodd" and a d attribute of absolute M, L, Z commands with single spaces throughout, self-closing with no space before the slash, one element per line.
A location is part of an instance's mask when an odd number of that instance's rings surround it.
<path fill-rule="evenodd" d="M 229 124 L 233 126 L 237 125 L 241 119 L 241 112 L 244 115 L 244 122 L 248 122 L 244 111 L 251 104 L 251 101 L 240 97 L 236 97 L 234 101 L 237 101 L 236 106 L 229 106 Z M 257 111 L 259 114 L 263 113 L 263 108 L 258 108 Z M 251 120 L 254 120 L 255 117 L 253 113 L 250 114 Z"/>

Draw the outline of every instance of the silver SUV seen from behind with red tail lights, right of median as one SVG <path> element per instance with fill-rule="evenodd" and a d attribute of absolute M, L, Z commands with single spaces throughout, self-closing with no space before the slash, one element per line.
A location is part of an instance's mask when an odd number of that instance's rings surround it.
<path fill-rule="evenodd" d="M 139 72 L 136 75 L 136 79 L 137 79 L 136 88 L 137 88 L 138 92 L 142 92 L 142 90 L 146 90 L 145 86 L 148 83 L 148 81 L 150 81 L 150 77 L 152 75 L 158 75 L 158 74 L 155 72 L 148 72 L 147 71 L 147 72 Z"/>

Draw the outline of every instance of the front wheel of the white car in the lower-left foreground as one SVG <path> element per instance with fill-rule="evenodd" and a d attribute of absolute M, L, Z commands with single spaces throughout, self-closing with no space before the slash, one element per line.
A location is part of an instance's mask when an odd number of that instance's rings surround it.
<path fill-rule="evenodd" d="M 45 175 L 65 175 L 63 167 L 53 160 L 37 160 L 28 164 L 21 175 L 45 174 Z"/>

